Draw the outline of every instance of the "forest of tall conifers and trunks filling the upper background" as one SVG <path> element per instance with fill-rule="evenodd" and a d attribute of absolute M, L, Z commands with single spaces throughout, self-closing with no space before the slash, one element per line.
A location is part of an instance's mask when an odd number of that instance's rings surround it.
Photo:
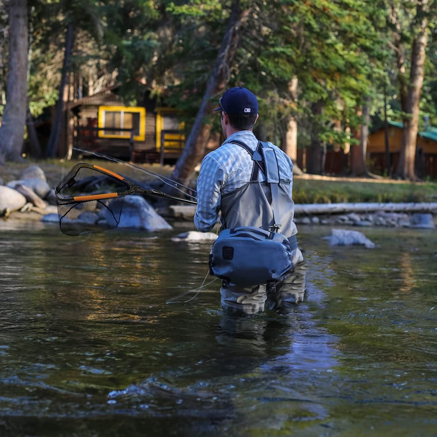
<path fill-rule="evenodd" d="M 120 85 L 136 104 L 144 87 L 182 110 L 186 183 L 220 129 L 213 109 L 227 87 L 260 102 L 257 135 L 289 154 L 309 147 L 323 173 L 329 144 L 350 144 L 350 172 L 366 173 L 369 129 L 404 125 L 395 177 L 414 180 L 417 132 L 437 126 L 435 0 L 0 0 L 0 163 L 57 153 L 63 91 Z M 34 120 L 55 108 L 50 138 Z"/>

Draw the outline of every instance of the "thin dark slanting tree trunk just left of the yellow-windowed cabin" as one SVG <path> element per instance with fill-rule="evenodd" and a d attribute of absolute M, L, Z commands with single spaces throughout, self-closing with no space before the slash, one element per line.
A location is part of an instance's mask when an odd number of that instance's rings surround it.
<path fill-rule="evenodd" d="M 53 125 L 50 130 L 49 142 L 47 143 L 47 149 L 45 151 L 45 155 L 49 158 L 54 158 L 58 150 L 59 135 L 61 133 L 62 122 L 64 120 L 63 118 L 64 90 L 65 90 L 68 71 L 70 67 L 71 53 L 73 51 L 73 40 L 74 40 L 73 24 L 69 23 L 67 26 L 67 35 L 65 40 L 65 54 L 64 54 L 64 62 L 62 64 L 61 83 L 59 85 L 59 96 L 55 106 L 55 118 L 53 120 Z"/>

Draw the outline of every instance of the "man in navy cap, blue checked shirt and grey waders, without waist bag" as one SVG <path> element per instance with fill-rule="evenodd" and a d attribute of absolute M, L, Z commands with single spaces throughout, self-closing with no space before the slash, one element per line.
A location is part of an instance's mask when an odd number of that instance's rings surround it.
<path fill-rule="evenodd" d="M 267 240 L 272 239 L 274 232 L 280 231 L 281 237 L 284 237 L 281 241 L 287 246 L 288 265 L 293 267 L 275 284 L 271 281 L 269 286 L 267 281 L 267 287 L 266 284 L 242 287 L 231 281 L 223 281 L 220 289 L 222 306 L 254 313 L 264 309 L 267 295 L 271 308 L 285 303 L 298 303 L 302 301 L 305 291 L 306 267 L 297 247 L 297 229 L 293 222 L 293 163 L 277 146 L 270 142 L 261 143 L 253 134 L 253 126 L 258 119 L 258 101 L 253 93 L 243 87 L 231 88 L 223 94 L 219 104 L 220 107 L 215 111 L 222 111 L 225 141 L 202 160 L 197 180 L 198 205 L 194 225 L 201 232 L 210 231 L 221 211 L 221 230 L 230 229 L 227 232 L 231 234 L 239 227 L 246 227 L 244 230 L 247 231 L 254 230 L 251 235 L 242 234 L 243 237 L 251 237 L 250 243 L 258 239 L 256 234 L 262 229 L 271 232 L 265 232 L 267 237 L 263 238 Z M 273 156 L 273 159 L 268 160 L 265 158 L 267 156 Z M 270 169 L 274 167 L 274 171 L 269 170 L 269 165 Z M 273 174 L 273 179 L 269 176 L 269 183 L 266 182 L 265 173 Z M 248 266 L 251 257 L 260 257 L 259 253 L 253 254 L 254 250 L 246 251 L 249 253 L 243 259 L 233 260 L 233 248 L 224 247 L 223 257 L 237 263 L 238 273 L 244 274 L 245 263 Z M 271 263 L 275 264 L 273 260 Z"/>

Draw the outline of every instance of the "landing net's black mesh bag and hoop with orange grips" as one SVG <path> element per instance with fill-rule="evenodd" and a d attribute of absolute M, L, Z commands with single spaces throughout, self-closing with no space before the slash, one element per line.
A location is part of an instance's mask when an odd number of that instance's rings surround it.
<path fill-rule="evenodd" d="M 59 226 L 67 235 L 83 235 L 113 229 L 130 184 L 99 166 L 76 164 L 55 189 Z"/>

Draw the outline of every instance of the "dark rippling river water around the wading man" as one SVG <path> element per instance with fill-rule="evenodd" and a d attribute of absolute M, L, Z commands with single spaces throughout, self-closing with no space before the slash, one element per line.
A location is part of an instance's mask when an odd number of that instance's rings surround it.
<path fill-rule="evenodd" d="M 437 434 L 436 230 L 300 226 L 304 302 L 245 316 L 177 298 L 209 251 L 177 232 L 0 223 L 2 437 Z"/>

